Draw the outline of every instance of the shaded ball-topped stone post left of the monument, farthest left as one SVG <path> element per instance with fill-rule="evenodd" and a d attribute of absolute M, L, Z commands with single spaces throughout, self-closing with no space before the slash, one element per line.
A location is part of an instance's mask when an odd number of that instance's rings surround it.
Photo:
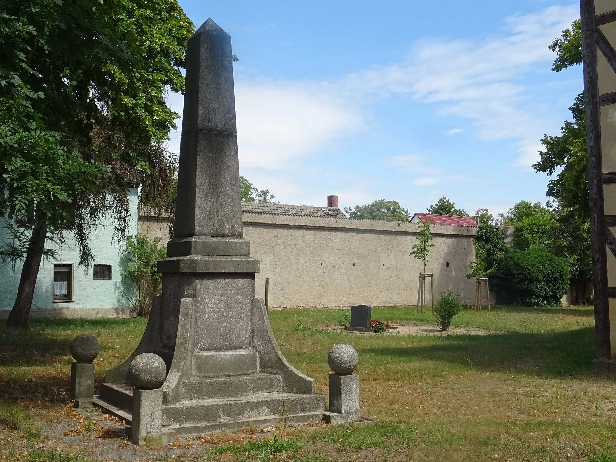
<path fill-rule="evenodd" d="M 89 333 L 82 333 L 71 341 L 71 355 L 76 362 L 71 364 L 70 399 L 73 407 L 92 407 L 94 399 L 94 364 L 99 356 L 99 341 Z"/>

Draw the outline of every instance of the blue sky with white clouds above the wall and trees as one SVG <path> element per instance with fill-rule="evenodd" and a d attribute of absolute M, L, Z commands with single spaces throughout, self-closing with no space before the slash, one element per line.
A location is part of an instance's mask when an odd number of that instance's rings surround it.
<path fill-rule="evenodd" d="M 285 204 L 545 202 L 535 173 L 582 91 L 548 45 L 579 3 L 180 0 L 232 37 L 240 173 Z M 181 95 L 169 103 L 182 113 Z M 181 121 L 178 121 L 181 123 Z M 173 133 L 172 151 L 179 150 Z"/>

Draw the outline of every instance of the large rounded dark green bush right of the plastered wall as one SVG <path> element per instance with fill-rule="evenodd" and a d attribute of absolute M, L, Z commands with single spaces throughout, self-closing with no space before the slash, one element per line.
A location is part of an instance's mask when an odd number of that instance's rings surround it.
<path fill-rule="evenodd" d="M 564 258 L 541 250 L 513 250 L 491 282 L 501 303 L 508 305 L 560 305 L 569 290 L 569 265 Z"/>

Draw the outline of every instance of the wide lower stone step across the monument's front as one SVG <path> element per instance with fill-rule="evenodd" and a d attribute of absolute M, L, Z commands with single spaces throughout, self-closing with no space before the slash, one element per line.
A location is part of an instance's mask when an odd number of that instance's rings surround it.
<path fill-rule="evenodd" d="M 258 393 L 233 398 L 194 399 L 163 406 L 164 426 L 210 424 L 214 429 L 225 423 L 251 426 L 259 419 L 320 415 L 325 398 L 319 394 Z M 309 420 L 312 420 L 311 418 Z M 306 421 L 306 420 L 304 420 Z"/>

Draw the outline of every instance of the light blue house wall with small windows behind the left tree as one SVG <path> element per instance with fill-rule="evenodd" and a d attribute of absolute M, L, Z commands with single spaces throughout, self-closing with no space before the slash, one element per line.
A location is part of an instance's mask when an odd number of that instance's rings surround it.
<path fill-rule="evenodd" d="M 129 189 L 131 215 L 129 217 L 129 228 L 126 234 L 137 233 L 137 189 Z M 8 238 L 7 230 L 0 229 L 0 240 L 3 242 Z M 115 317 L 131 316 L 129 302 L 122 295 L 122 289 L 131 293 L 131 287 L 124 287 L 120 275 L 121 269 L 121 247 L 113 241 L 113 225 L 106 223 L 99 226 L 91 235 L 91 247 L 94 254 L 95 265 L 105 265 L 110 267 L 110 275 L 104 274 L 103 277 L 110 276 L 110 279 L 94 279 L 95 271 L 93 266 L 87 268 L 87 273 L 83 266 L 79 266 L 79 252 L 70 234 L 67 236 L 65 244 L 55 245 L 49 241 L 46 248 L 55 248 L 57 258 L 54 261 L 41 261 L 34 298 L 32 301 L 31 317 Z M 61 266 L 60 266 L 61 265 Z M 65 300 L 59 300 L 58 293 L 54 297 L 54 267 L 59 269 L 69 269 L 71 273 L 71 287 Z M 100 269 L 101 267 L 97 267 Z M 12 271 L 10 263 L 0 263 L 0 318 L 6 318 L 10 309 L 15 303 L 17 288 L 21 276 L 22 265 L 17 263 L 15 271 Z M 102 273 L 99 271 L 97 276 Z M 63 275 L 60 274 L 60 277 Z M 58 279 L 58 273 L 56 273 Z M 56 285 L 55 292 L 59 287 L 66 285 Z M 55 300 L 54 300 L 55 299 Z"/>

